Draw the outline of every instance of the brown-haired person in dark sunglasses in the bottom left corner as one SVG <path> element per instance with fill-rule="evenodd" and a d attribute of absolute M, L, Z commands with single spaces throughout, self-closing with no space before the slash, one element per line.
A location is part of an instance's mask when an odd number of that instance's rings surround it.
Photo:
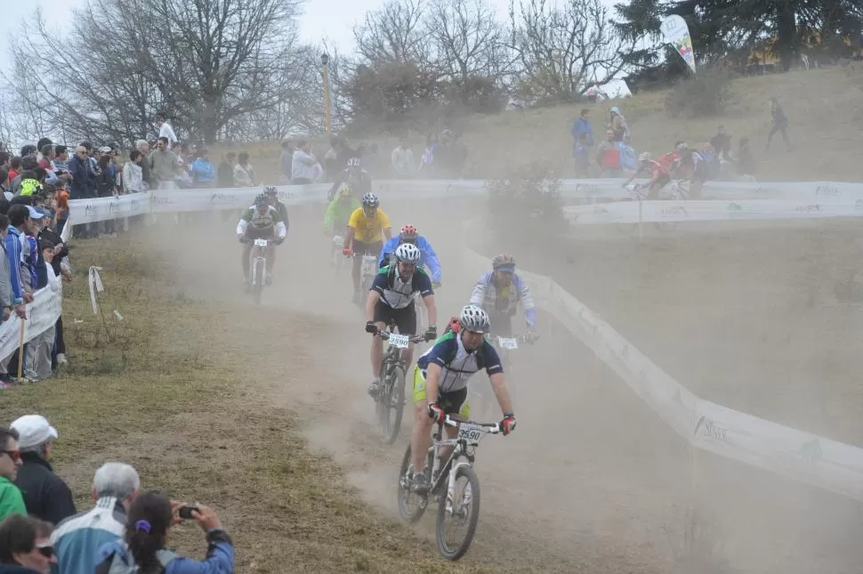
<path fill-rule="evenodd" d="M 51 524 L 24 514 L 0 522 L 0 574 L 48 574 L 57 562 Z"/>

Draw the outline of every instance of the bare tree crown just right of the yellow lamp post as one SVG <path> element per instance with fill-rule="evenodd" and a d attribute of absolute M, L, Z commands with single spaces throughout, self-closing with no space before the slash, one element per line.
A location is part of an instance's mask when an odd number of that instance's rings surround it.
<path fill-rule="evenodd" d="M 427 63 L 423 14 L 423 0 L 387 0 L 353 28 L 357 53 L 366 63 Z"/>

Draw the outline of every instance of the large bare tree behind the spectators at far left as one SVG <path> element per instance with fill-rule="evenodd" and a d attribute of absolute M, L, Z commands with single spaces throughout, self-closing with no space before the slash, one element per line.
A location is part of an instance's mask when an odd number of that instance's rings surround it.
<path fill-rule="evenodd" d="M 22 27 L 8 79 L 21 105 L 75 136 L 131 141 L 162 112 L 213 141 L 231 119 L 278 102 L 273 72 L 297 49 L 298 2 L 88 0 L 68 37 L 41 14 Z"/>

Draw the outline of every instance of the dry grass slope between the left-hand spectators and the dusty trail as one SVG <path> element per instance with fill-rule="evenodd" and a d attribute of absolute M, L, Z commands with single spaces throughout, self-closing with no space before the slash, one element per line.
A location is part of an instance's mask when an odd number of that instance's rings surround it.
<path fill-rule="evenodd" d="M 293 412 L 268 402 L 255 381 L 280 373 L 248 354 L 262 342 L 226 320 L 234 310 L 190 300 L 160 271 L 164 259 L 138 251 L 142 244 L 128 236 L 77 242 L 77 262 L 104 268 L 106 311 L 125 319 L 111 321 L 109 340 L 78 270 L 64 302 L 69 371 L 2 394 L 0 420 L 39 412 L 60 430 L 53 463 L 78 507 L 91 504 L 95 468 L 122 459 L 138 468 L 144 489 L 214 505 L 237 543 L 239 572 L 444 568 L 428 540 L 375 513 L 329 458 L 306 448 Z M 265 313 L 244 316 L 260 326 Z M 202 554 L 197 528 L 180 527 L 171 541 Z"/>

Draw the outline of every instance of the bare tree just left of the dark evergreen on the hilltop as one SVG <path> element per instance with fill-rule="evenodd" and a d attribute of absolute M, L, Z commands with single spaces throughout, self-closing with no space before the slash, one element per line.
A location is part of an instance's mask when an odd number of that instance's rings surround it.
<path fill-rule="evenodd" d="M 511 4 L 512 49 L 528 95 L 569 99 L 588 83 L 604 84 L 624 67 L 627 42 L 617 35 L 601 0 L 546 0 Z"/>

